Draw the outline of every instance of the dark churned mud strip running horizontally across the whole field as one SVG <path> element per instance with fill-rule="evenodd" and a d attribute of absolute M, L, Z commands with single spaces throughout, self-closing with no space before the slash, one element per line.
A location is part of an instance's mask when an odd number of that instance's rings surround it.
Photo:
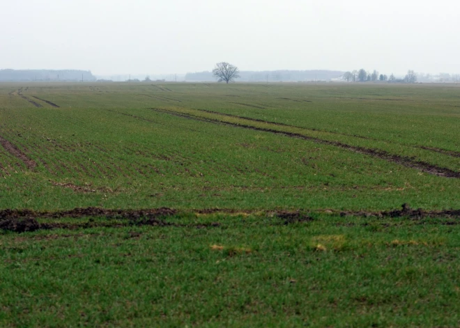
<path fill-rule="evenodd" d="M 340 215 L 341 217 L 405 217 L 408 219 L 420 220 L 428 217 L 456 219 L 456 221 L 441 221 L 439 224 L 454 225 L 460 224 L 460 210 L 422 210 L 411 209 L 407 204 L 403 204 L 401 210 L 390 210 L 380 212 L 366 211 L 332 211 L 332 210 L 297 210 L 297 211 L 272 211 L 266 210 L 262 215 L 275 217 L 279 221 L 275 224 L 295 224 L 314 221 L 310 216 L 312 213 L 323 213 Z M 176 214 L 256 214 L 261 215 L 260 210 L 234 210 L 234 209 L 213 209 L 181 211 L 171 208 L 156 208 L 150 210 L 105 210 L 102 208 L 75 208 L 74 210 L 56 212 L 36 212 L 33 210 L 0 210 L 0 229 L 3 231 L 14 231 L 22 233 L 26 231 L 49 230 L 55 228 L 65 228 L 70 230 L 82 228 L 122 228 L 126 226 L 158 226 L 158 227 L 181 227 L 181 228 L 216 228 L 220 227 L 219 222 L 209 224 L 177 224 L 164 221 L 164 218 Z M 52 219 L 61 218 L 83 219 L 88 221 L 74 223 L 55 222 Z M 106 221 L 94 221 L 93 218 L 106 219 Z M 38 222 L 37 219 L 49 219 L 49 221 Z M 120 222 L 120 219 L 127 221 Z M 116 221 L 118 220 L 118 221 Z"/>

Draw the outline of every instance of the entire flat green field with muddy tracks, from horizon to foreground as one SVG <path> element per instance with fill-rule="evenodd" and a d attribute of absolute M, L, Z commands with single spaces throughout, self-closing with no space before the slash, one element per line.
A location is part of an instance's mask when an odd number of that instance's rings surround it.
<path fill-rule="evenodd" d="M 0 84 L 0 326 L 458 327 L 459 131 L 454 84 Z"/>

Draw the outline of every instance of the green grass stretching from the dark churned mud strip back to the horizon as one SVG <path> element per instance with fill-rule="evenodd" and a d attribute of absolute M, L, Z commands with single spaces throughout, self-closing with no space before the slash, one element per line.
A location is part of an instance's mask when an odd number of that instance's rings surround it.
<path fill-rule="evenodd" d="M 21 87 L 22 95 L 43 107 L 8 95 Z M 385 210 L 404 202 L 415 208 L 459 207 L 458 179 L 333 144 L 384 151 L 458 174 L 455 86 L 167 88 L 171 91 L 151 84 L 2 84 L 0 136 L 37 164 L 26 169 L 0 148 L 2 207 Z"/>

